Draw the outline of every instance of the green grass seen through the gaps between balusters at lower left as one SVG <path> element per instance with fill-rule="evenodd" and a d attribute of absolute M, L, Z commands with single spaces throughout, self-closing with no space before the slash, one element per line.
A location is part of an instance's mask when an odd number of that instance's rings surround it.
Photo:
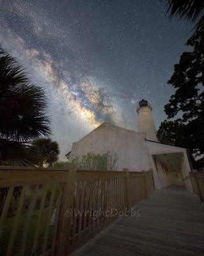
<path fill-rule="evenodd" d="M 34 239 L 34 232 L 35 232 L 37 221 L 38 221 L 38 214 L 39 214 L 39 210 L 36 210 L 36 211 L 34 211 L 34 215 L 31 216 L 29 230 L 27 233 L 27 240 L 26 240 L 26 244 L 25 244 L 24 255 L 31 255 L 33 239 Z M 42 249 L 42 244 L 43 244 L 43 239 L 44 239 L 45 225 L 47 222 L 47 214 L 48 214 L 48 207 L 43 210 L 37 255 L 41 254 L 41 249 Z M 18 224 L 17 236 L 16 236 L 15 243 L 13 246 L 12 255 L 18 255 L 18 252 L 20 250 L 20 241 L 21 241 L 21 237 L 22 237 L 22 232 L 24 230 L 25 218 L 26 218 L 26 212 L 21 214 L 20 222 Z M 8 217 L 4 221 L 3 236 L 1 237 L 1 241 L 0 241 L 0 254 L 1 255 L 6 255 L 6 250 L 8 247 L 14 220 L 15 220 L 15 216 L 11 216 L 11 217 Z M 50 248 L 51 244 L 52 244 L 52 232 L 53 232 L 53 227 L 50 227 L 47 248 Z"/>

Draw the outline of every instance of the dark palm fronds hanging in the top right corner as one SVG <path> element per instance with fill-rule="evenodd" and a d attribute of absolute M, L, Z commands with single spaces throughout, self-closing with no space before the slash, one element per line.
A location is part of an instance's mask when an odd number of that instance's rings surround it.
<path fill-rule="evenodd" d="M 168 11 L 170 11 L 170 17 L 175 14 L 179 14 L 184 19 L 192 20 L 199 19 L 194 26 L 197 31 L 204 31 L 204 1 L 203 0 L 168 0 Z"/>

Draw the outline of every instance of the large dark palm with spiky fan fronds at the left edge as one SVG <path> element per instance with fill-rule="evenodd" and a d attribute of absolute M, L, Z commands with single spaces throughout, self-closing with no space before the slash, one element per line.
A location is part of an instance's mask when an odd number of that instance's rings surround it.
<path fill-rule="evenodd" d="M 47 98 L 0 47 L 0 165 L 31 165 L 29 141 L 50 135 Z"/>

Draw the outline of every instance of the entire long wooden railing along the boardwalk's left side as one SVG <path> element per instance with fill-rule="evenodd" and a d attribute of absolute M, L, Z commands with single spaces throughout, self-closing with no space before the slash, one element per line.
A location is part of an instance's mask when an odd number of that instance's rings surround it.
<path fill-rule="evenodd" d="M 19 187 L 14 216 L 8 216 L 13 191 Z M 0 208 L 0 252 L 67 255 L 119 216 L 128 215 L 132 205 L 152 192 L 154 182 L 152 170 L 84 172 L 68 164 L 57 170 L 0 168 L 0 188 L 8 188 Z"/>

